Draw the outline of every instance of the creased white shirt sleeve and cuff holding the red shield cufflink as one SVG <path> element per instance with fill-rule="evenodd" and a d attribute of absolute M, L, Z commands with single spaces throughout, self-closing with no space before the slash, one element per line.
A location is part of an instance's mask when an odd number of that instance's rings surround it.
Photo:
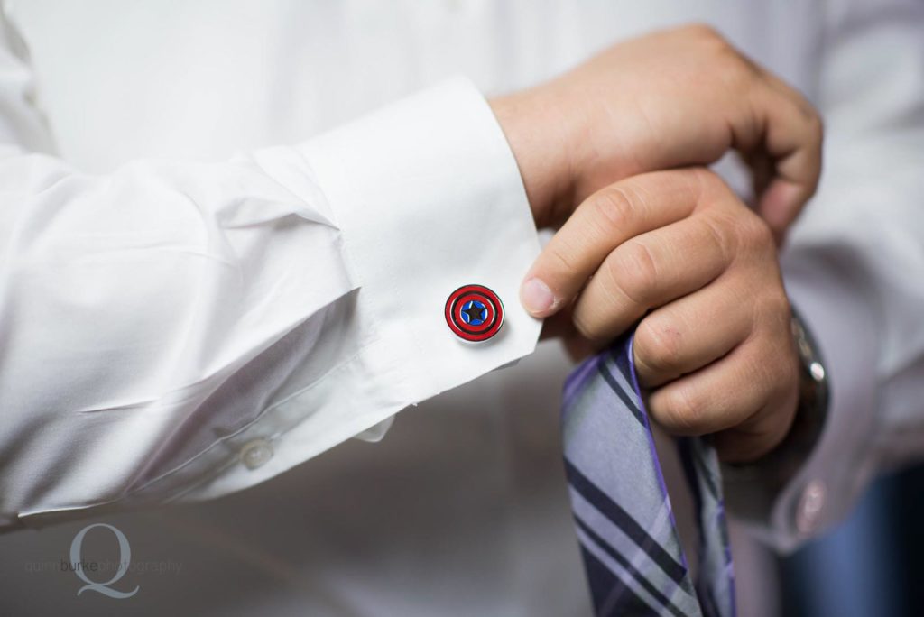
<path fill-rule="evenodd" d="M 86 175 L 3 27 L 0 529 L 246 488 L 534 348 L 536 231 L 467 80 L 296 146 Z M 483 345 L 444 321 L 470 283 L 507 301 Z"/>

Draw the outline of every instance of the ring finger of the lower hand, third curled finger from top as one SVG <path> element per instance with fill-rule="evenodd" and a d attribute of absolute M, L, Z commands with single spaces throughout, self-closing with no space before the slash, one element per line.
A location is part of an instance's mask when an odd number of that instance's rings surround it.
<path fill-rule="evenodd" d="M 638 381 L 654 388 L 723 357 L 752 332 L 747 292 L 723 277 L 690 296 L 657 309 L 638 324 Z"/>

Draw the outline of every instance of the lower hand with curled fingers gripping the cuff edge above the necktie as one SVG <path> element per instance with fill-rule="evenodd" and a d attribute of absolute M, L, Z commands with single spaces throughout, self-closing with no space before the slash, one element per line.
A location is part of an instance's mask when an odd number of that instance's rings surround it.
<path fill-rule="evenodd" d="M 527 275 L 602 346 L 638 323 L 638 379 L 675 434 L 717 432 L 724 460 L 780 442 L 798 359 L 770 228 L 705 169 L 638 175 L 585 200 Z"/>

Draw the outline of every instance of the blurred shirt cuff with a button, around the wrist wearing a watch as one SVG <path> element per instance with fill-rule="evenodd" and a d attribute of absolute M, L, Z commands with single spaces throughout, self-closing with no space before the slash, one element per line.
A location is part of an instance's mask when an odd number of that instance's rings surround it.
<path fill-rule="evenodd" d="M 863 282 L 836 251 L 784 256 L 788 296 L 821 348 L 829 388 L 827 417 L 813 449 L 783 486 L 755 466 L 723 466 L 733 514 L 776 550 L 795 550 L 830 528 L 875 473 L 873 447 L 878 342 Z"/>

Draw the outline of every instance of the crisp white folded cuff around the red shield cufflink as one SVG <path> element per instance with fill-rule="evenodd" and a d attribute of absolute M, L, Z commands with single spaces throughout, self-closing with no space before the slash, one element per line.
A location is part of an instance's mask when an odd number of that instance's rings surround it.
<path fill-rule="evenodd" d="M 528 355 L 541 321 L 518 301 L 540 245 L 513 152 L 468 79 L 430 90 L 312 139 L 297 151 L 342 231 L 359 284 L 357 321 L 377 386 L 381 420 Z M 505 321 L 472 345 L 444 318 L 465 284 L 492 289 Z M 382 437 L 387 424 L 359 435 Z"/>

